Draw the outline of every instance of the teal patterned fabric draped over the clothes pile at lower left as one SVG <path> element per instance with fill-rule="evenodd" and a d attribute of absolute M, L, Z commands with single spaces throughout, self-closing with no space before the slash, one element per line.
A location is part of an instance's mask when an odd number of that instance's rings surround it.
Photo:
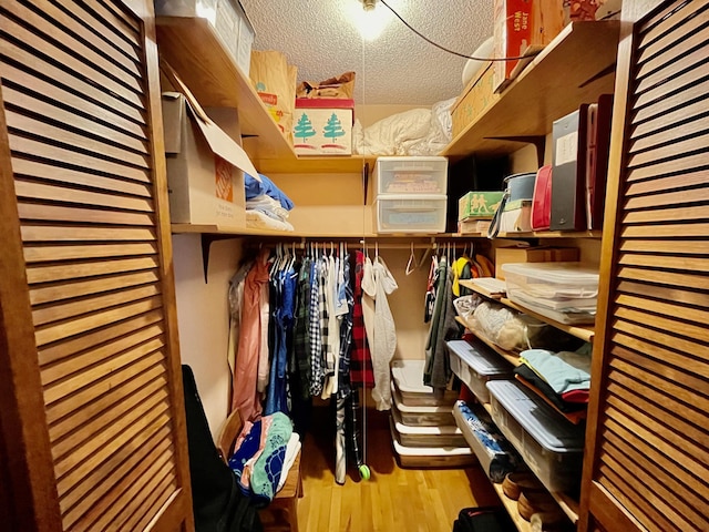
<path fill-rule="evenodd" d="M 266 446 L 251 470 L 251 498 L 255 502 L 274 500 L 282 473 L 286 448 L 292 433 L 292 422 L 284 412 L 270 415 L 271 424 L 266 436 Z"/>

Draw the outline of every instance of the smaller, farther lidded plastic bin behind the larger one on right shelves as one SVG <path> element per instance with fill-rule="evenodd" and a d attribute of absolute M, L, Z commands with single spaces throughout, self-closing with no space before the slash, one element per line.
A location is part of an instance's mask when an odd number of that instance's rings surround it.
<path fill-rule="evenodd" d="M 451 340 L 446 346 L 451 355 L 451 370 L 481 402 L 490 402 L 485 382 L 512 378 L 510 364 L 481 341 Z"/>

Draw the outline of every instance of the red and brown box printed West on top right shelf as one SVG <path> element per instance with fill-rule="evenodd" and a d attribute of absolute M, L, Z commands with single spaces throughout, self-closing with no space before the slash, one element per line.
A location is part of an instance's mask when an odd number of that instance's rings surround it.
<path fill-rule="evenodd" d="M 495 0 L 493 57 L 514 58 L 538 52 L 568 22 L 559 0 Z M 502 92 L 532 59 L 496 61 L 493 88 Z"/>

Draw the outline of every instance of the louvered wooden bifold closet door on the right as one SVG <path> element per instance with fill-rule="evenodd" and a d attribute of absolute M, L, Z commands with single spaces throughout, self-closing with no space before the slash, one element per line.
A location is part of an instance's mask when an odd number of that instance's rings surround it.
<path fill-rule="evenodd" d="M 606 530 L 705 531 L 709 0 L 662 2 L 628 41 L 586 500 L 592 521 Z"/>

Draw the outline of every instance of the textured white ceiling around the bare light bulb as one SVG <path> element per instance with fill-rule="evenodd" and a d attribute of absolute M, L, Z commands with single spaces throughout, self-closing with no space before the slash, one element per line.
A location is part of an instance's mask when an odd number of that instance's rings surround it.
<path fill-rule="evenodd" d="M 393 18 L 363 41 L 349 9 L 359 0 L 242 0 L 256 31 L 255 50 L 280 50 L 298 81 L 357 73 L 358 104 L 430 105 L 462 90 L 465 59 L 443 52 Z M 388 0 L 429 39 L 472 53 L 492 35 L 491 0 Z M 380 2 L 377 10 L 387 10 Z"/>

